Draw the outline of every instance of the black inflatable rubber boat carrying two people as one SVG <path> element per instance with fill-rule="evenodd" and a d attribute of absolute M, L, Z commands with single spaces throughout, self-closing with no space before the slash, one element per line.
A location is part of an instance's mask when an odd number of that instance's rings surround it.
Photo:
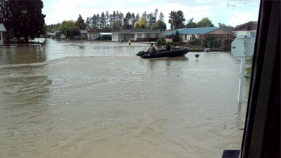
<path fill-rule="evenodd" d="M 175 56 L 183 56 L 188 53 L 188 47 L 174 47 L 170 51 L 166 51 L 166 49 L 157 50 L 159 53 L 148 54 L 145 51 L 138 52 L 136 55 L 140 56 L 140 58 L 164 58 L 164 57 L 175 57 Z"/>

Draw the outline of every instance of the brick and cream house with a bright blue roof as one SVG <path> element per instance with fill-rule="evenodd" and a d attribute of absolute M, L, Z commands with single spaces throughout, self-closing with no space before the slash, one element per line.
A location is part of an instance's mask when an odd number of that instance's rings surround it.
<path fill-rule="evenodd" d="M 179 31 L 179 35 L 183 42 L 187 42 L 194 35 L 196 38 L 205 36 L 217 36 L 219 39 L 234 39 L 234 33 L 221 27 L 203 27 L 203 28 L 180 28 L 174 31 L 164 33 L 165 40 L 172 40 L 172 33 Z"/>

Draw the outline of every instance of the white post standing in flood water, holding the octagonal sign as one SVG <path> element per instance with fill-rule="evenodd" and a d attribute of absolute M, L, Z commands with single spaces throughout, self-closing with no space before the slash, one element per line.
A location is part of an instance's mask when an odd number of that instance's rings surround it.
<path fill-rule="evenodd" d="M 242 103 L 242 99 L 243 99 L 243 83 L 244 83 L 244 73 L 245 73 L 247 40 L 248 40 L 247 35 L 245 35 L 243 39 L 243 47 L 242 47 L 242 54 L 241 54 L 238 103 Z"/>

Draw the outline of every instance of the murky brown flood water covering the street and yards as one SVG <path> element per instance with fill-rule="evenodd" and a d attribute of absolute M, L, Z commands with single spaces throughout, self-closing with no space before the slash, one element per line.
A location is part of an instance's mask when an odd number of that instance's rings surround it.
<path fill-rule="evenodd" d="M 221 157 L 240 149 L 249 81 L 229 52 L 141 59 L 147 44 L 1 48 L 0 157 Z M 195 54 L 200 54 L 195 61 Z"/>

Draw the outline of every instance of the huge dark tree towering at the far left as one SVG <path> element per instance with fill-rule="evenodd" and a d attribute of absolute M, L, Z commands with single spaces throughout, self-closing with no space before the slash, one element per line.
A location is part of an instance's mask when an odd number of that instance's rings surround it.
<path fill-rule="evenodd" d="M 34 39 L 45 34 L 44 18 L 46 15 L 42 14 L 43 2 L 41 0 L 8 1 L 5 4 L 8 6 L 3 5 L 3 7 L 9 10 L 3 12 L 10 14 L 10 26 L 7 27 L 12 29 L 14 36 L 18 40 L 20 37 L 24 37 L 24 41 L 27 42 L 29 38 Z"/>

